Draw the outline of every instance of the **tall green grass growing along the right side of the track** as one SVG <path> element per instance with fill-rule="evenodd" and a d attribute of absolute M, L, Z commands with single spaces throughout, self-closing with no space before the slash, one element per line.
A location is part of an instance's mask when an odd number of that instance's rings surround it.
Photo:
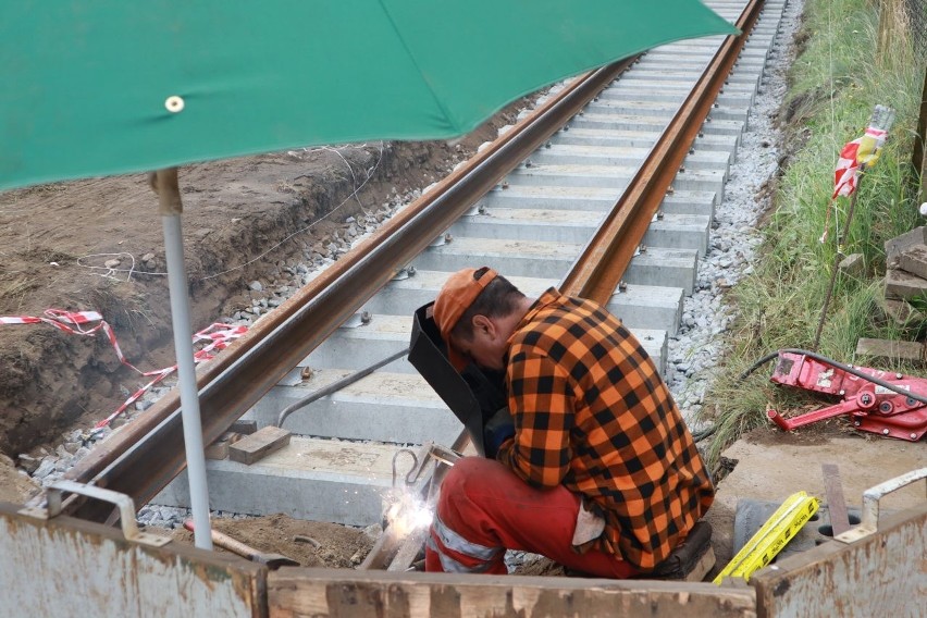
<path fill-rule="evenodd" d="M 802 52 L 790 70 L 783 103 L 789 165 L 763 231 L 762 257 L 728 297 L 739 318 L 725 370 L 706 395 L 702 420 L 717 428 L 708 446 L 712 465 L 742 433 L 768 422 L 767 407 L 788 410 L 815 401 L 770 384 L 771 363 L 746 379 L 740 375 L 777 349 L 813 347 L 840 257 L 862 254 L 866 272 L 837 276 L 819 354 L 858 363 L 854 353 L 860 337 L 912 339 L 924 330 L 917 321 L 899 325 L 885 318 L 879 298 L 885 240 L 925 224 L 917 212 L 911 166 L 925 63 L 904 37 L 880 57 L 890 60 L 877 62 L 877 9 L 865 0 L 805 2 Z M 861 181 L 848 230 L 848 198 L 835 200 L 827 215 L 833 166 L 842 146 L 863 134 L 876 104 L 893 108 L 897 119 L 879 161 Z M 821 243 L 825 228 L 827 239 Z M 843 238 L 839 252 L 838 240 Z"/>

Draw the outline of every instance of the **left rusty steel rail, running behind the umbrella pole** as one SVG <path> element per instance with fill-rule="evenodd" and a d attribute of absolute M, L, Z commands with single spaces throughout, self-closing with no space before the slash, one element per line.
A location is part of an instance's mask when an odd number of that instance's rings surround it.
<path fill-rule="evenodd" d="M 574 79 L 511 131 L 397 213 L 311 284 L 258 322 L 197 376 L 203 441 L 228 427 L 498 181 L 539 148 L 631 61 Z M 172 391 L 65 475 L 143 505 L 184 469 L 180 396 Z M 104 521 L 110 509 L 73 496 L 65 511 Z"/>

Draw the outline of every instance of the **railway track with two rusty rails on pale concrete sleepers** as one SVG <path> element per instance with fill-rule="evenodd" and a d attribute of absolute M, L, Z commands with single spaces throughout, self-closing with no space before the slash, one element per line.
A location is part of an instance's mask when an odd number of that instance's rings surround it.
<path fill-rule="evenodd" d="M 207 442 L 243 417 L 277 424 L 318 396 L 283 420 L 286 448 L 251 466 L 208 462 L 211 508 L 373 523 L 404 449 L 418 454 L 412 491 L 428 493 L 430 445 L 462 450 L 467 440 L 408 361 L 325 390 L 403 353 L 415 309 L 464 267 L 493 265 L 529 296 L 557 285 L 607 305 L 665 368 L 784 0 L 707 4 L 750 37 L 667 45 L 555 89 L 203 368 Z M 188 506 L 183 460 L 172 393 L 67 478 L 138 505 Z M 77 498 L 65 510 L 109 515 Z M 404 569 L 417 547 L 394 531 L 363 566 Z"/>

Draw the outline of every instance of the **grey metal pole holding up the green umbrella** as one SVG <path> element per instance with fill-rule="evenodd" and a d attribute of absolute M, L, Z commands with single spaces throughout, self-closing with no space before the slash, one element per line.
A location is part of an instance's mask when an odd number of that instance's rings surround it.
<path fill-rule="evenodd" d="M 151 175 L 150 181 L 151 188 L 158 194 L 158 212 L 161 214 L 164 228 L 168 286 L 171 293 L 171 319 L 174 327 L 174 348 L 177 356 L 181 413 L 194 520 L 194 544 L 201 549 L 212 549 L 209 492 L 206 486 L 206 452 L 202 445 L 202 421 L 199 416 L 199 393 L 196 384 L 193 329 L 190 327 L 190 302 L 181 228 L 181 214 L 184 211 L 184 206 L 181 201 L 177 169 L 159 170 Z"/>

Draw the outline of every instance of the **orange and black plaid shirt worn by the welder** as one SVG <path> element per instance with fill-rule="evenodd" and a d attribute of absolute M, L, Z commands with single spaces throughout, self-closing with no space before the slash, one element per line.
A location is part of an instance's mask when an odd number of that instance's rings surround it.
<path fill-rule="evenodd" d="M 516 436 L 497 459 L 534 486 L 565 485 L 605 518 L 593 543 L 647 570 L 666 559 L 715 491 L 651 358 L 620 320 L 555 288 L 509 339 Z"/>

